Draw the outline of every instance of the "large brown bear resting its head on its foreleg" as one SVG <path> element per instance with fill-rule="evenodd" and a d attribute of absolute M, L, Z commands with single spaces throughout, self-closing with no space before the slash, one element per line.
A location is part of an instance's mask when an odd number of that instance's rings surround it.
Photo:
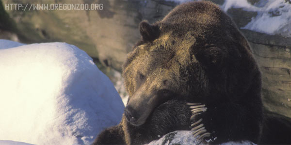
<path fill-rule="evenodd" d="M 146 144 L 176 130 L 210 144 L 258 143 L 260 71 L 229 16 L 211 2 L 188 2 L 154 24 L 141 22 L 140 33 L 123 66 L 122 121 L 94 144 Z"/>

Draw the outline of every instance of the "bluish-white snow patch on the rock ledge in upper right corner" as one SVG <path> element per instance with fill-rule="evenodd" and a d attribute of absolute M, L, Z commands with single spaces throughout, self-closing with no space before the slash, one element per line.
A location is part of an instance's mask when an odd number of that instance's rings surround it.
<path fill-rule="evenodd" d="M 258 12 L 258 15 L 241 29 L 291 37 L 291 3 L 288 0 L 260 0 L 255 5 L 251 5 L 247 0 L 226 0 L 221 7 L 225 12 L 229 8 Z"/>

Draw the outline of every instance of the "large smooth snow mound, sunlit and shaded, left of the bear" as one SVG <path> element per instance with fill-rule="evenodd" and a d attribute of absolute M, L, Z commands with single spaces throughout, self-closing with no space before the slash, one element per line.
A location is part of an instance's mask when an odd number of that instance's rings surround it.
<path fill-rule="evenodd" d="M 116 89 L 76 46 L 0 40 L 0 48 L 0 140 L 89 145 L 120 122 Z"/>

